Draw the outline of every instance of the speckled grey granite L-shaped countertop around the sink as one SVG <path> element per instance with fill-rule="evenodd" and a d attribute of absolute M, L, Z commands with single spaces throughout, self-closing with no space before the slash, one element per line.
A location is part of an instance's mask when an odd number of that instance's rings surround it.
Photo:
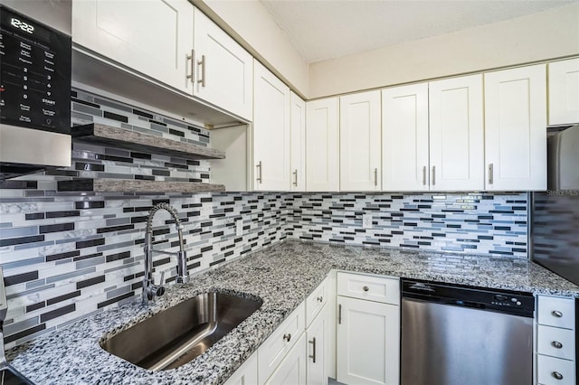
<path fill-rule="evenodd" d="M 579 296 L 579 286 L 526 259 L 345 247 L 286 240 L 171 286 L 154 305 L 140 302 L 92 315 L 8 352 L 18 371 L 42 384 L 221 384 L 332 269 L 427 279 L 535 294 Z M 192 362 L 147 371 L 100 348 L 106 339 L 185 299 L 215 290 L 258 296 L 261 308 Z"/>

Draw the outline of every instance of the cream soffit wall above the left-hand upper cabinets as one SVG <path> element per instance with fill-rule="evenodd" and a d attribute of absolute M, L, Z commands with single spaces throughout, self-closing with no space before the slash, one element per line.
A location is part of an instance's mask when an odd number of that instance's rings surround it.
<path fill-rule="evenodd" d="M 190 0 L 230 33 L 289 88 L 302 98 L 308 96 L 309 71 L 304 61 L 257 0 Z M 216 17 L 215 17 L 216 16 Z M 221 20 L 220 20 L 221 19 Z"/>

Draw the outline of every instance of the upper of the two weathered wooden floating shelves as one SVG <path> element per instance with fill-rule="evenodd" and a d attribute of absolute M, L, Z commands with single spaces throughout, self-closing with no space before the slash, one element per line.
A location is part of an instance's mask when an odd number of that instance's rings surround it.
<path fill-rule="evenodd" d="M 71 128 L 72 140 L 185 159 L 225 159 L 223 151 L 100 124 Z"/>

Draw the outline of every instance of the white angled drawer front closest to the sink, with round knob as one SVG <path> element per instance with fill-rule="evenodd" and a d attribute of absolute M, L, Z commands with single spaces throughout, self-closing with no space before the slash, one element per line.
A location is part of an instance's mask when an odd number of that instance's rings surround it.
<path fill-rule="evenodd" d="M 258 350 L 260 383 L 267 380 L 305 330 L 306 305 L 302 302 L 280 326 L 271 333 Z"/>

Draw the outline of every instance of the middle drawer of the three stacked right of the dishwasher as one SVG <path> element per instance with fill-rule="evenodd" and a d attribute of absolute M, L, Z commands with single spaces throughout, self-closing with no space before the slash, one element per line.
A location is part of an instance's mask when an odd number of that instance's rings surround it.
<path fill-rule="evenodd" d="M 536 350 L 565 360 L 575 359 L 575 335 L 573 330 L 539 325 L 536 336 Z"/>

